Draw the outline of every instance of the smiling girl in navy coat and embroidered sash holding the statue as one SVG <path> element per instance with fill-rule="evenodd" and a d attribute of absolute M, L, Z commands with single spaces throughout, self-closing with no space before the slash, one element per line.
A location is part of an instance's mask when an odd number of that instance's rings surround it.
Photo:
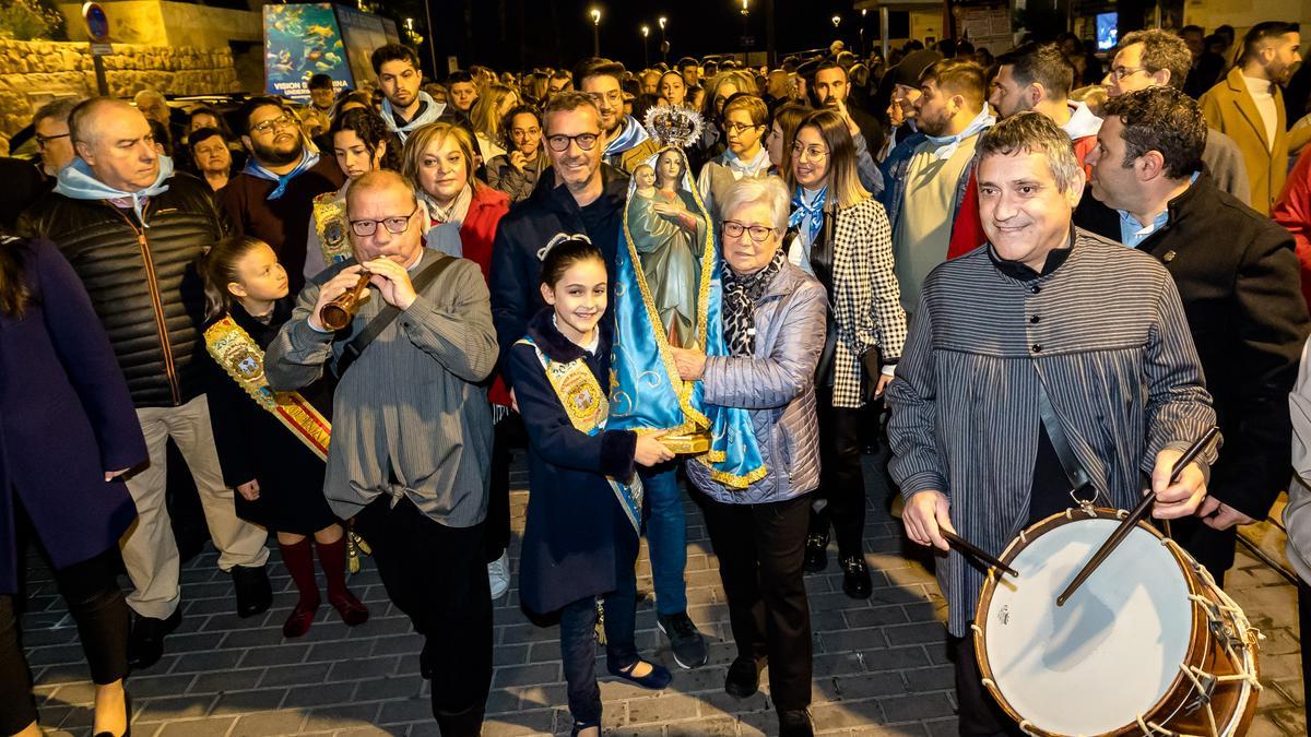
<path fill-rule="evenodd" d="M 560 652 L 573 734 L 600 734 L 595 675 L 597 601 L 603 601 L 607 669 L 645 688 L 669 670 L 637 654 L 633 628 L 641 484 L 636 464 L 674 458 L 661 433 L 607 430 L 610 328 L 606 262 L 586 236 L 544 249 L 541 296 L 551 306 L 510 349 L 509 371 L 528 430 L 528 514 L 519 598 L 560 612 Z"/>

